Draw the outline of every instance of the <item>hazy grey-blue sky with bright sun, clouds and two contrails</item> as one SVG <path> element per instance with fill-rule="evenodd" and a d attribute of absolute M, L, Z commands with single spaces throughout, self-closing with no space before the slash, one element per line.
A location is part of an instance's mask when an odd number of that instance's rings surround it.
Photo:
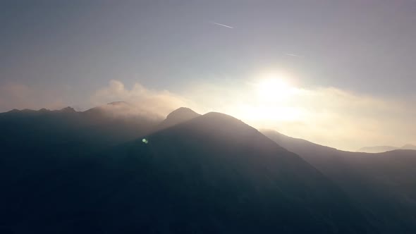
<path fill-rule="evenodd" d="M 0 1 L 0 111 L 220 111 L 338 149 L 416 144 L 416 1 Z"/>

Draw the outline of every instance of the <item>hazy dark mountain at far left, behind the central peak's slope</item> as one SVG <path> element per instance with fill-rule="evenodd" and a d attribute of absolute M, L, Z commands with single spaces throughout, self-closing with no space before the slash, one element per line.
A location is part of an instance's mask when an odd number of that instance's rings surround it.
<path fill-rule="evenodd" d="M 67 107 L 0 113 L 0 164 L 21 164 L 16 173 L 30 173 L 47 157 L 73 159 L 149 133 L 159 121 L 146 116 L 107 114 L 107 106 L 78 112 Z M 33 164 L 32 167 L 30 164 Z M 40 165 L 37 170 L 44 168 Z"/>

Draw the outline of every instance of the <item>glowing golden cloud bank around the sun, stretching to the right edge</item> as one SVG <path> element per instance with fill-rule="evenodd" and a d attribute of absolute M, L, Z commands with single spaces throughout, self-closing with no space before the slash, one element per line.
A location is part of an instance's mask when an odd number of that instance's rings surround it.
<path fill-rule="evenodd" d="M 290 97 L 262 99 L 250 82 L 201 83 L 186 92 L 200 111 L 219 111 L 256 128 L 355 150 L 416 143 L 415 99 L 355 94 L 334 87 L 292 87 Z"/>

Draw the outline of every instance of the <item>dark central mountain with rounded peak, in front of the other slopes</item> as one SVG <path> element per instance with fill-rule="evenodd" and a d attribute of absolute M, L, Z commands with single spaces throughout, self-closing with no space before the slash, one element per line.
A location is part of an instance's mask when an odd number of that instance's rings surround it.
<path fill-rule="evenodd" d="M 4 233 L 377 233 L 329 178 L 221 113 L 101 153 L 55 152 L 0 154 Z"/>

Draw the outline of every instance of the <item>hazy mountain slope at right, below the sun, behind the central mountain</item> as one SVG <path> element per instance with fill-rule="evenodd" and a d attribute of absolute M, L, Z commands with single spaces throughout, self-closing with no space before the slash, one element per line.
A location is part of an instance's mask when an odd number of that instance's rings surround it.
<path fill-rule="evenodd" d="M 334 180 L 386 233 L 416 233 L 416 151 L 345 152 L 274 130 L 262 133 Z"/>

